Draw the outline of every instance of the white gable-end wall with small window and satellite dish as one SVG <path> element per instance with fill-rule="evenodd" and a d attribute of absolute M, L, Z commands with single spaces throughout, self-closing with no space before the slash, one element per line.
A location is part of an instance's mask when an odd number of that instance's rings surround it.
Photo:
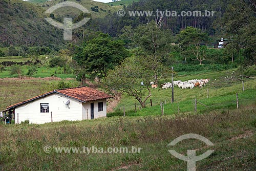
<path fill-rule="evenodd" d="M 65 105 L 70 100 L 69 108 Z M 40 103 L 49 103 L 49 113 L 40 113 Z M 29 123 L 53 122 L 62 120 L 82 120 L 82 103 L 60 94 L 51 94 L 44 98 L 20 105 L 15 109 L 15 123 L 29 120 Z M 18 114 L 18 118 L 17 118 Z"/>

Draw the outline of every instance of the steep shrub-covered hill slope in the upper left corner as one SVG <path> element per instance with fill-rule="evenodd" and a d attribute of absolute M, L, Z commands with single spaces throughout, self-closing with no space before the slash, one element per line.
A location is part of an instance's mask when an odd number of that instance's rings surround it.
<path fill-rule="evenodd" d="M 49 25 L 44 10 L 21 0 L 0 1 L 0 44 L 35 46 L 61 44 L 62 31 Z"/>

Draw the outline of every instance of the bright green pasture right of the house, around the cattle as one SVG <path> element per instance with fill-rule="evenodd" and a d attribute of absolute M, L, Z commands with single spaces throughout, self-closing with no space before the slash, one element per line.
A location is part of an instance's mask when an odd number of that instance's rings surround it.
<path fill-rule="evenodd" d="M 210 82 L 203 87 L 202 89 L 194 88 L 190 89 L 179 89 L 178 87 L 174 88 L 175 94 L 175 103 L 171 104 L 172 90 L 162 90 L 152 89 L 152 96 L 146 102 L 146 109 L 139 111 L 140 104 L 138 101 L 127 95 L 122 95 L 120 102 L 118 103 L 115 111 L 108 114 L 108 116 L 123 115 L 123 108 L 126 111 L 127 116 L 144 116 L 144 115 L 159 115 L 161 114 L 160 102 L 165 101 L 165 114 L 176 114 L 177 102 L 179 102 L 179 107 L 181 112 L 193 112 L 194 111 L 194 99 L 197 98 L 199 102 L 202 102 L 206 105 L 209 105 L 210 108 L 198 104 L 198 112 L 205 112 L 207 110 L 217 109 L 226 109 L 226 108 L 236 108 L 236 93 L 239 94 L 240 104 L 251 104 L 256 101 L 256 79 L 246 79 L 244 82 L 245 90 L 242 92 L 242 83 L 241 81 L 234 80 L 232 83 L 225 79 L 227 71 L 219 72 L 208 72 L 201 74 L 193 73 L 177 73 L 174 80 L 189 80 L 189 79 L 202 79 L 210 78 Z M 216 79 L 216 80 L 215 80 Z M 166 80 L 160 80 L 160 83 L 168 82 L 170 78 Z M 212 83 L 213 82 L 213 83 Z M 209 91 L 209 98 L 207 99 L 207 89 Z M 153 102 L 153 108 L 150 106 L 150 99 Z M 137 106 L 137 113 L 135 113 L 135 103 Z"/>

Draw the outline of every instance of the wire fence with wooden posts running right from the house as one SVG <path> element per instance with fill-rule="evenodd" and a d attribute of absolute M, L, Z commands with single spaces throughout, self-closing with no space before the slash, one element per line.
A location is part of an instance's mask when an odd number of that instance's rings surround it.
<path fill-rule="evenodd" d="M 161 100 L 147 100 L 146 108 L 143 109 L 140 103 L 136 102 L 129 109 L 120 106 L 118 111 L 108 114 L 111 116 L 145 116 L 145 115 L 173 115 L 180 113 L 205 113 L 212 110 L 240 109 L 246 105 L 256 105 L 254 90 L 241 93 L 231 93 L 225 96 L 207 98 L 192 98 L 189 100 L 172 102 L 172 97 Z M 131 109 L 132 108 L 132 109 Z"/>

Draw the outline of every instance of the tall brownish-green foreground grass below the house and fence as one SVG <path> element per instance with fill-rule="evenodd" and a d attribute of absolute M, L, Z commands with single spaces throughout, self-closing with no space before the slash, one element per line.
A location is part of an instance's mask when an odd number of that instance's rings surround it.
<path fill-rule="evenodd" d="M 187 117 L 114 117 L 47 124 L 1 125 L 1 170 L 186 170 L 187 163 L 168 153 L 175 149 L 197 155 L 213 149 L 198 161 L 197 170 L 254 170 L 256 143 L 255 105 L 241 110 L 210 112 Z M 214 146 L 175 138 L 199 134 Z M 52 151 L 44 152 L 50 145 Z M 140 147 L 141 153 L 56 153 L 54 147 Z M 80 151 L 78 151 L 80 152 Z M 82 152 L 82 151 L 81 151 Z"/>

